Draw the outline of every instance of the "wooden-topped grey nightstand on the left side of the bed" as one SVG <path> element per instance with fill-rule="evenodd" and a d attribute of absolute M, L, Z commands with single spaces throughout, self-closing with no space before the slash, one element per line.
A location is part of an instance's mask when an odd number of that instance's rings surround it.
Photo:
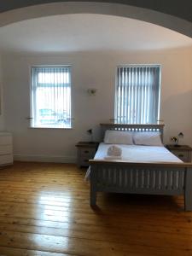
<path fill-rule="evenodd" d="M 79 142 L 75 146 L 78 148 L 77 165 L 79 167 L 89 166 L 89 160 L 93 159 L 99 143 Z"/>

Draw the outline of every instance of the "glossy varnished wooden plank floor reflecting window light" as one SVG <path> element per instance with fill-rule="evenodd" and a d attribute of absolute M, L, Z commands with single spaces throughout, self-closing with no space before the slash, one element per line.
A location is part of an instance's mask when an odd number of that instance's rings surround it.
<path fill-rule="evenodd" d="M 74 165 L 0 170 L 0 255 L 192 255 L 183 197 L 98 195 Z"/>

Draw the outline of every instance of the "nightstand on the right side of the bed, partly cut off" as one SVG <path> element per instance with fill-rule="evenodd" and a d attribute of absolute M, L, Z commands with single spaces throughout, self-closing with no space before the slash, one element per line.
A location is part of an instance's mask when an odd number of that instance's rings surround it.
<path fill-rule="evenodd" d="M 191 161 L 191 147 L 187 145 L 166 145 L 166 148 L 169 149 L 172 152 L 172 154 L 175 154 L 180 160 L 183 160 L 183 162 Z"/>

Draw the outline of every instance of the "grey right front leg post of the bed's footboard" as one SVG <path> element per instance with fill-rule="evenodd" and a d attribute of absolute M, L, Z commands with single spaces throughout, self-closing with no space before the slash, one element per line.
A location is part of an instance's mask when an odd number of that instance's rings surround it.
<path fill-rule="evenodd" d="M 192 211 L 192 168 L 186 168 L 185 172 L 184 209 Z"/>

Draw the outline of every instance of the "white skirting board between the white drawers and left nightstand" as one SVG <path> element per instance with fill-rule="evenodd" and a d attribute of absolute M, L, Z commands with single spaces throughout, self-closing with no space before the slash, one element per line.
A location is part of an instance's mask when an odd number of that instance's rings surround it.
<path fill-rule="evenodd" d="M 30 154 L 15 154 L 14 160 L 27 162 L 48 162 L 48 163 L 76 163 L 75 156 L 48 156 L 48 155 L 30 155 Z"/>

